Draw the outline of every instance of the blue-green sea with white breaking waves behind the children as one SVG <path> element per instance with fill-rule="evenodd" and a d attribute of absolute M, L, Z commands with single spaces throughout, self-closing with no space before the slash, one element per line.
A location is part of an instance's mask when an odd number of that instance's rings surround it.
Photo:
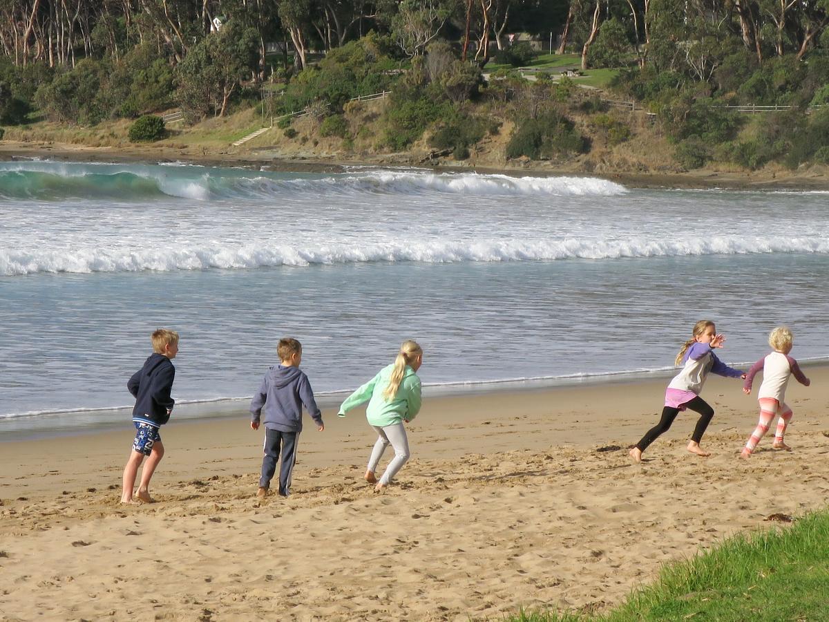
<path fill-rule="evenodd" d="M 731 364 L 780 323 L 793 356 L 824 359 L 827 275 L 822 192 L 0 163 L 0 438 L 128 425 L 158 327 L 181 333 L 190 416 L 244 414 L 284 335 L 329 401 L 405 338 L 427 395 L 665 374 L 701 318 Z"/>

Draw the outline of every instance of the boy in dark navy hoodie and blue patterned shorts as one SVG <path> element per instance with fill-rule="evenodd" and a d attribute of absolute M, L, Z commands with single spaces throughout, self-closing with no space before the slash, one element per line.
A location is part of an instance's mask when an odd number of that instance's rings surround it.
<path fill-rule="evenodd" d="M 158 428 L 170 420 L 175 403 L 170 396 L 172 381 L 176 377 L 176 368 L 172 366 L 171 359 L 178 353 L 178 333 L 159 328 L 153 333 L 152 340 L 154 353 L 127 382 L 127 388 L 135 398 L 133 424 L 136 432 L 133 450 L 124 467 L 121 503 L 133 503 L 135 476 L 144 456 L 149 458 L 141 471 L 137 496 L 144 503 L 153 503 L 149 492 L 150 478 L 164 456 L 164 445 Z"/>

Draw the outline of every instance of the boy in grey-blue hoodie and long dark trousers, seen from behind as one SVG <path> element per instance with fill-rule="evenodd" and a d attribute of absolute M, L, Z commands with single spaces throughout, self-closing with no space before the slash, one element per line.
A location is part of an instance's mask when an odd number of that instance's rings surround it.
<path fill-rule="evenodd" d="M 268 369 L 262 386 L 250 401 L 250 427 L 253 430 L 259 430 L 264 411 L 264 458 L 257 497 L 268 494 L 270 480 L 279 461 L 280 445 L 279 494 L 283 497 L 290 494 L 293 464 L 297 460 L 297 440 L 303 431 L 303 406 L 317 424 L 317 429 L 320 432 L 325 430 L 322 412 L 313 399 L 308 376 L 299 371 L 299 363 L 303 360 L 302 344 L 290 337 L 279 339 L 276 353 L 281 363 Z"/>

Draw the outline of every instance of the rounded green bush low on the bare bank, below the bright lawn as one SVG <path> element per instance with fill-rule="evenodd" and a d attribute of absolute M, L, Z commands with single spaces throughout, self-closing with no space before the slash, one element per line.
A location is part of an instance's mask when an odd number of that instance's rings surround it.
<path fill-rule="evenodd" d="M 585 153 L 588 142 L 563 114 L 550 110 L 536 119 L 522 119 L 507 143 L 507 158 L 555 158 Z"/>

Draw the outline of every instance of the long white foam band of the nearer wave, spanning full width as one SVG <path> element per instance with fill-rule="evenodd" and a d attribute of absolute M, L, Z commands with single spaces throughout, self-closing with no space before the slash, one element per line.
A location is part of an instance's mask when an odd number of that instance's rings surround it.
<path fill-rule="evenodd" d="M 180 245 L 172 250 L 104 250 L 99 247 L 26 253 L 0 250 L 0 275 L 138 272 L 142 270 L 245 270 L 279 265 L 308 266 L 371 262 L 431 264 L 465 261 L 618 260 L 691 255 L 760 253 L 829 254 L 829 239 L 817 237 L 697 237 L 681 241 L 506 241 L 432 240 L 372 244 Z"/>

